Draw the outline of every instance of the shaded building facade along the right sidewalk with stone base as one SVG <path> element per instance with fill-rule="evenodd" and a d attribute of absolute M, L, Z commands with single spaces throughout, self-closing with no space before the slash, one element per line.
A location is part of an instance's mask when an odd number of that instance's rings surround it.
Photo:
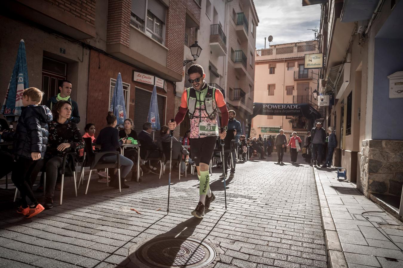
<path fill-rule="evenodd" d="M 316 2 L 326 59 L 319 90 L 335 98 L 325 122 L 339 141 L 334 165 L 347 168 L 358 190 L 402 219 L 403 1 Z"/>

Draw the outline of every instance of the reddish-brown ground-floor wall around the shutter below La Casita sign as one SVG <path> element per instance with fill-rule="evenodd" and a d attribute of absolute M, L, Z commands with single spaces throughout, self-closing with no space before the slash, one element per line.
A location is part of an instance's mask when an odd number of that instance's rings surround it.
<path fill-rule="evenodd" d="M 96 136 L 99 131 L 106 126 L 106 115 L 109 110 L 109 92 L 110 78 L 116 79 L 120 72 L 122 82 L 130 84 L 130 99 L 129 99 L 129 115 L 127 117 L 135 117 L 135 87 L 140 87 L 152 92 L 153 86 L 133 82 L 133 70 L 143 72 L 137 68 L 117 61 L 97 51 L 91 50 L 91 60 L 89 63 L 89 81 L 88 81 L 88 102 L 87 102 L 87 122 L 96 125 Z M 157 93 L 166 96 L 166 116 L 167 120 L 175 116 L 175 100 L 173 93 L 173 85 L 167 83 L 167 93 L 157 88 Z M 144 105 L 148 110 L 148 103 Z M 164 111 L 165 113 L 165 111 Z"/>

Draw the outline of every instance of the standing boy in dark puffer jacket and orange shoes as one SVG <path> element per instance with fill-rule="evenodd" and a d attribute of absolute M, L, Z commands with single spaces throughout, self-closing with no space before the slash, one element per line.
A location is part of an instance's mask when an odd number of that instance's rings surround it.
<path fill-rule="evenodd" d="M 11 180 L 21 193 L 22 204 L 17 212 L 26 218 L 44 210 L 32 192 L 29 176 L 26 176 L 35 166 L 36 160 L 44 157 L 48 143 L 48 123 L 53 119 L 49 108 L 39 105 L 42 96 L 43 92 L 37 88 L 27 88 L 23 91 L 24 107 L 14 134 L 14 154 L 17 162 L 12 170 Z M 31 205 L 27 203 L 27 196 Z"/>

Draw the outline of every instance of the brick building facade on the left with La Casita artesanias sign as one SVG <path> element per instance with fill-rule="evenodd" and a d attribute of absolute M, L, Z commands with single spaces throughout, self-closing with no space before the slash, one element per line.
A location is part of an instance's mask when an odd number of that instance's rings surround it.
<path fill-rule="evenodd" d="M 127 117 L 137 132 L 147 121 L 157 85 L 161 125 L 175 114 L 175 83 L 183 80 L 186 19 L 200 17 L 195 0 L 11 0 L 1 3 L 0 83 L 7 88 L 19 41 L 27 51 L 29 85 L 44 99 L 58 81 L 73 84 L 80 129 L 106 125 L 115 79 L 121 73 Z M 5 91 L 0 92 L 4 98 Z M 46 101 L 46 100 L 45 100 Z M 158 137 L 158 135 L 156 136 Z"/>

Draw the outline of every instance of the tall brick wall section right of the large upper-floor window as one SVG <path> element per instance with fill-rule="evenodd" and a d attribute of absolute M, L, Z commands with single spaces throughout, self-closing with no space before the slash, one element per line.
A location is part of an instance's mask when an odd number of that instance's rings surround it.
<path fill-rule="evenodd" d="M 177 73 L 183 71 L 185 24 L 186 5 L 183 4 L 182 0 L 170 0 L 165 27 L 165 46 L 169 49 L 166 67 Z"/>

